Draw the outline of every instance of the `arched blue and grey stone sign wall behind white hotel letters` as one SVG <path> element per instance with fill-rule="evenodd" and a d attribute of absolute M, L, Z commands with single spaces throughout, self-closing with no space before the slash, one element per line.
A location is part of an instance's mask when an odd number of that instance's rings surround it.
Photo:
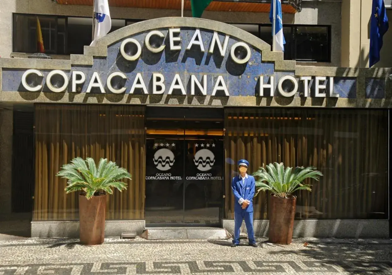
<path fill-rule="evenodd" d="M 125 38 L 134 38 L 143 45 L 147 32 L 156 30 L 157 26 L 165 34 L 170 27 L 181 27 L 182 48 L 174 54 L 164 50 L 158 56 L 142 54 L 136 62 L 123 60 L 119 54 L 121 42 Z M 214 31 L 230 36 L 229 47 L 236 41 L 243 41 L 251 48 L 250 61 L 245 66 L 231 63 L 228 58 L 229 50 L 224 58 L 215 59 L 193 50 L 185 50 L 187 42 L 193 36 L 195 29 L 201 29 L 205 48 L 208 49 Z M 165 42 L 166 43 L 166 42 Z M 142 52 L 144 51 L 144 47 Z M 84 55 L 71 55 L 70 60 L 38 60 L 38 59 L 0 59 L 2 75 L 2 92 L 0 101 L 5 102 L 85 102 L 85 103 L 131 103 L 131 104 L 184 104 L 184 105 L 214 105 L 214 106 L 314 106 L 314 107 L 383 107 L 391 104 L 391 79 L 389 68 L 356 69 L 339 67 L 301 66 L 295 61 L 283 60 L 283 53 L 271 52 L 270 45 L 243 31 L 225 23 L 197 18 L 160 18 L 135 23 L 119 29 L 100 40 L 97 47 L 85 47 Z M 189 74 L 207 74 L 212 77 L 208 86 L 211 91 L 212 83 L 217 75 L 223 75 L 231 87 L 229 97 L 190 95 L 144 95 L 144 94 L 113 94 L 85 93 L 82 88 L 79 93 L 53 93 L 45 88 L 40 92 L 25 92 L 20 89 L 21 75 L 29 68 L 41 70 L 44 75 L 49 70 L 64 70 L 70 74 L 72 70 L 82 70 L 87 75 L 87 82 L 92 72 L 99 72 L 105 83 L 108 73 L 121 71 L 128 77 L 128 83 L 135 79 L 136 73 L 143 74 L 145 83 L 149 82 L 151 72 L 161 72 L 169 80 L 175 73 L 181 74 L 183 86 L 189 82 Z M 188 74 L 188 75 L 187 75 Z M 297 79 L 301 76 L 334 77 L 334 92 L 339 98 L 301 97 L 301 92 L 293 97 L 282 98 L 258 97 L 255 87 L 258 86 L 258 76 L 264 75 L 264 83 L 269 76 L 274 75 L 276 81 L 284 75 L 292 75 Z M 133 78 L 133 79 L 132 79 Z M 199 78 L 200 80 L 200 78 Z M 87 86 L 87 85 L 85 85 Z M 303 86 L 302 84 L 299 86 Z M 312 92 L 310 90 L 310 92 Z"/>

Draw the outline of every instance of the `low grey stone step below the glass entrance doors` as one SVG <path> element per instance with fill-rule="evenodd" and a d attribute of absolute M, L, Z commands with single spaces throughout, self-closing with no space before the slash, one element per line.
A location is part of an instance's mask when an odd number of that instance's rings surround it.
<path fill-rule="evenodd" d="M 149 227 L 140 236 L 147 240 L 227 240 L 232 237 L 225 228 L 216 227 Z"/>

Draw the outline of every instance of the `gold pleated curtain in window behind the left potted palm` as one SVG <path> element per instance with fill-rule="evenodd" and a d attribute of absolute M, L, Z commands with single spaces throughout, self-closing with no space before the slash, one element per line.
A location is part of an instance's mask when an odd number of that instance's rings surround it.
<path fill-rule="evenodd" d="M 128 188 L 107 198 L 106 219 L 143 219 L 145 129 L 143 106 L 35 105 L 36 221 L 78 219 L 78 194 L 65 194 L 62 165 L 80 156 L 107 158 L 131 173 Z"/>

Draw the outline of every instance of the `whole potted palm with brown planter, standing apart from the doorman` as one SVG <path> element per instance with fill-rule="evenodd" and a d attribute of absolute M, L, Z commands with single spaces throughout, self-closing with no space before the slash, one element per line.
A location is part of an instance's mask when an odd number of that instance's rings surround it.
<path fill-rule="evenodd" d="M 80 242 L 102 244 L 105 238 L 105 216 L 107 194 L 112 188 L 120 192 L 127 189 L 122 179 L 131 179 L 125 168 L 115 162 L 101 158 L 96 167 L 93 158 L 74 158 L 62 166 L 57 176 L 67 179 L 66 193 L 81 191 L 79 194 Z"/>

